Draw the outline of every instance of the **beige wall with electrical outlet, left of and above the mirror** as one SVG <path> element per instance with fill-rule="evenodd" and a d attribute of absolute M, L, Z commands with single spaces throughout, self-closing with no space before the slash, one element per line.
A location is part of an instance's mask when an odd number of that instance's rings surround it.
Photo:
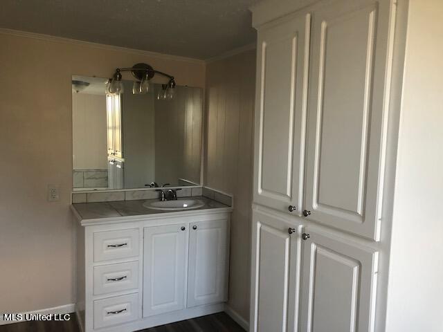
<path fill-rule="evenodd" d="M 204 87 L 203 62 L 0 33 L 0 312 L 73 303 L 71 75 L 147 62 Z M 48 184 L 60 201 L 48 203 Z"/>

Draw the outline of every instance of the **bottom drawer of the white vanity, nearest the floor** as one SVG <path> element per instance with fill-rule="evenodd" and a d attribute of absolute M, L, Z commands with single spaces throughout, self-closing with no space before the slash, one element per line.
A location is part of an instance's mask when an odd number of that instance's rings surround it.
<path fill-rule="evenodd" d="M 94 301 L 94 329 L 138 318 L 138 293 Z"/>

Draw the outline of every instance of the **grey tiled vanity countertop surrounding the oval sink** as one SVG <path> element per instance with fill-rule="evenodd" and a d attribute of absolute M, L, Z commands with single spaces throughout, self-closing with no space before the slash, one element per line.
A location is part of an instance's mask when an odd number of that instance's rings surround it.
<path fill-rule="evenodd" d="M 183 197 L 186 199 L 186 197 Z M 205 203 L 204 206 L 192 210 L 152 210 L 145 208 L 143 203 L 149 201 L 159 201 L 158 199 L 139 200 L 139 201 L 115 201 L 115 202 L 100 202 L 100 203 L 77 203 L 71 205 L 72 210 L 77 216 L 78 221 L 82 225 L 98 224 L 106 221 L 118 222 L 121 220 L 131 220 L 134 217 L 153 216 L 159 214 L 177 215 L 177 214 L 192 214 L 201 212 L 202 210 L 220 209 L 223 211 L 230 211 L 232 208 L 224 205 L 213 199 L 208 199 L 204 196 L 192 196 L 192 199 L 198 199 Z"/>

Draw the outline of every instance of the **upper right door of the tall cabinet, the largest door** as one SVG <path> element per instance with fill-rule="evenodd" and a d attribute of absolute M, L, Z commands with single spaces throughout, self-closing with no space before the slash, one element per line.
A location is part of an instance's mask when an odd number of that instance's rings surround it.
<path fill-rule="evenodd" d="M 305 209 L 379 239 L 390 1 L 341 0 L 312 16 Z"/>

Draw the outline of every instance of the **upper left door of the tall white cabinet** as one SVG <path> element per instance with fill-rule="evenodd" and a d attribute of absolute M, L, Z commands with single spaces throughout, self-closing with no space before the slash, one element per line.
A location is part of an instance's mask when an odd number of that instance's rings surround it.
<path fill-rule="evenodd" d="M 258 31 L 254 201 L 300 212 L 310 16 Z"/>

